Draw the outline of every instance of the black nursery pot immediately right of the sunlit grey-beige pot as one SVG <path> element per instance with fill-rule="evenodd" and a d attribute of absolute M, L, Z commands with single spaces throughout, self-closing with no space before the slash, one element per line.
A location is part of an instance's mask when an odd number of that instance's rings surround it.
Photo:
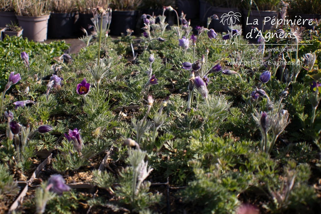
<path fill-rule="evenodd" d="M 48 37 L 52 39 L 73 37 L 76 13 L 50 13 Z"/>

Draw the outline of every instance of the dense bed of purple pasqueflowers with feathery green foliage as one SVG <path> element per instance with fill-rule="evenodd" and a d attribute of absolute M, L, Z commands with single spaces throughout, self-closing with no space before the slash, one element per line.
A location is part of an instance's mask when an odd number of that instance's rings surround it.
<path fill-rule="evenodd" d="M 48 150 L 18 211 L 319 213 L 320 23 L 251 45 L 142 18 L 140 40 L 96 28 L 73 55 L 4 39 L 0 194 Z"/>

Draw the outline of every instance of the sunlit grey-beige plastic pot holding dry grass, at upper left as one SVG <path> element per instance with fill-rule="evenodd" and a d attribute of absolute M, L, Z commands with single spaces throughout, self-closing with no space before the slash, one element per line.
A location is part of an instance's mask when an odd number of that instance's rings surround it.
<path fill-rule="evenodd" d="M 36 42 L 47 40 L 48 19 L 50 15 L 28 17 L 18 16 L 19 26 L 23 28 L 22 36 Z"/>

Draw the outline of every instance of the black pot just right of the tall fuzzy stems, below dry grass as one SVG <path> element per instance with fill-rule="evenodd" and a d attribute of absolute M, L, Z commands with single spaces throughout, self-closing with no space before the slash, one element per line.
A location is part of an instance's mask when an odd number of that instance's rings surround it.
<path fill-rule="evenodd" d="M 135 30 L 138 11 L 113 11 L 111 12 L 110 34 L 120 36 L 126 34 L 127 29 Z"/>

